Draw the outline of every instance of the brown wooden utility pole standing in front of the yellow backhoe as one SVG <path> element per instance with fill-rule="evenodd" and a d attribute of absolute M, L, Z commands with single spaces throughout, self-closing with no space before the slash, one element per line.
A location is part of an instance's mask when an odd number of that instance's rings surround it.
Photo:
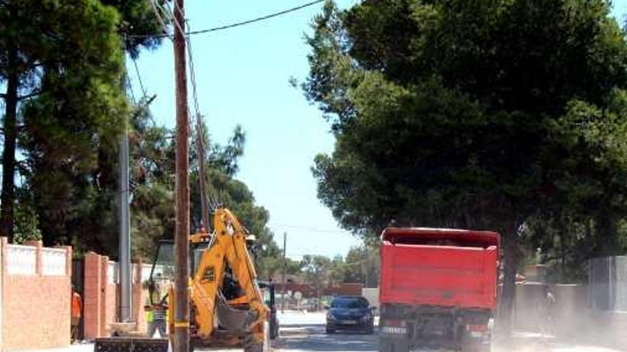
<path fill-rule="evenodd" d="M 176 234 L 174 352 L 190 350 L 190 179 L 188 146 L 185 13 L 183 0 L 174 3 L 174 63 L 176 82 Z"/>

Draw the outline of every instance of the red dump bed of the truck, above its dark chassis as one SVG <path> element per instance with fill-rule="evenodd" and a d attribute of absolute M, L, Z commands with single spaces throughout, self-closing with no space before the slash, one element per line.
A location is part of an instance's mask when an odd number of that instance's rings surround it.
<path fill-rule="evenodd" d="M 494 309 L 499 235 L 387 228 L 381 244 L 381 304 Z"/>

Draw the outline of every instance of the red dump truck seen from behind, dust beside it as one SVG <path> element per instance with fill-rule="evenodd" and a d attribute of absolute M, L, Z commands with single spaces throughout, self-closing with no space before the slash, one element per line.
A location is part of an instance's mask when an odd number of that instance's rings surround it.
<path fill-rule="evenodd" d="M 489 351 L 499 234 L 386 228 L 379 351 Z"/>

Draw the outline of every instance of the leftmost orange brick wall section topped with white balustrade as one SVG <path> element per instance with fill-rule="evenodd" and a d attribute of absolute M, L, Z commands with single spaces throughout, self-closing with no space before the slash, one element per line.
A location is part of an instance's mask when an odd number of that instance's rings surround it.
<path fill-rule="evenodd" d="M 33 272 L 9 270 L 24 264 L 19 261 L 9 264 L 9 260 L 14 260 L 11 251 L 27 250 L 27 247 L 9 246 L 6 238 L 0 238 L 1 297 L 4 298 L 1 351 L 66 347 L 70 343 L 71 247 L 50 251 L 41 242 L 33 242 L 31 247 L 35 248 Z M 65 268 L 61 267 L 61 272 L 49 270 L 48 262 L 42 260 L 43 251 L 64 259 Z"/>

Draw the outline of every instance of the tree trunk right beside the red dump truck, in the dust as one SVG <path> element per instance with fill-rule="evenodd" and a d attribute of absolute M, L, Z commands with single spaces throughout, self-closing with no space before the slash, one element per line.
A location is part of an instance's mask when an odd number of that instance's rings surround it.
<path fill-rule="evenodd" d="M 509 339 L 512 334 L 514 302 L 516 300 L 517 226 L 503 234 L 503 287 L 499 297 L 497 333 L 499 338 Z"/>

